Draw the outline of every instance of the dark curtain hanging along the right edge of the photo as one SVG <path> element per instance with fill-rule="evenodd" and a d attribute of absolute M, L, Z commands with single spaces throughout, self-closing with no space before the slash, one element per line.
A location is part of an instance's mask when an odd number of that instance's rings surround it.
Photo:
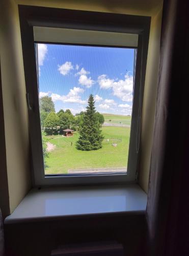
<path fill-rule="evenodd" d="M 189 255 L 188 9 L 188 0 L 164 1 L 146 209 L 153 256 Z"/>

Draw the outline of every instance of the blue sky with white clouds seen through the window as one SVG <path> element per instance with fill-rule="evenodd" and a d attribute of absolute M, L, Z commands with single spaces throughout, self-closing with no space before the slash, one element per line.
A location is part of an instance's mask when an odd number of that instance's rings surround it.
<path fill-rule="evenodd" d="M 133 61 L 133 49 L 38 44 L 39 97 L 75 114 L 93 94 L 100 113 L 130 115 Z"/>

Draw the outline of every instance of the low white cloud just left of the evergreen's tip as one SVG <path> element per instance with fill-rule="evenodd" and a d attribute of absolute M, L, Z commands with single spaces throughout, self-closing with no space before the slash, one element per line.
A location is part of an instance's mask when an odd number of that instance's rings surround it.
<path fill-rule="evenodd" d="M 56 93 L 52 93 L 50 96 L 52 98 L 52 101 L 63 101 L 63 102 L 75 102 L 80 104 L 86 104 L 86 100 L 82 100 L 80 94 L 84 92 L 84 89 L 79 87 L 74 87 L 73 89 L 70 89 L 69 93 L 67 95 L 59 95 Z"/>

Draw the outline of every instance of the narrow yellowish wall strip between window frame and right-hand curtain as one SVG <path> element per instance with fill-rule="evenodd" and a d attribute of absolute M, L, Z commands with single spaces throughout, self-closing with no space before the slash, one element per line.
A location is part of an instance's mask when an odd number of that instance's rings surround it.
<path fill-rule="evenodd" d="M 148 179 L 150 171 L 151 150 L 153 142 L 154 117 L 156 105 L 156 92 L 159 68 L 159 50 L 160 50 L 160 33 L 161 33 L 161 16 L 163 8 L 160 7 L 156 15 L 152 16 L 145 89 L 143 99 L 142 124 L 141 124 L 141 156 L 140 156 L 140 173 L 139 184 L 148 191 Z"/>

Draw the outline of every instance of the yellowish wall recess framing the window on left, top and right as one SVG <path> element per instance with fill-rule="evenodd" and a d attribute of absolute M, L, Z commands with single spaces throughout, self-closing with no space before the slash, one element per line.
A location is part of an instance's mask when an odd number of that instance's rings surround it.
<path fill-rule="evenodd" d="M 159 7 L 162 6 L 162 1 L 145 0 L 144 3 L 141 0 L 90 2 L 88 0 L 79 2 L 77 0 L 47 0 L 45 2 L 42 0 L 2 0 L 0 4 L 0 50 L 10 212 L 31 188 L 29 123 L 25 100 L 18 4 L 152 16 L 142 114 L 143 151 L 140 165 L 140 185 L 147 191 L 158 70 L 161 16 Z"/>

